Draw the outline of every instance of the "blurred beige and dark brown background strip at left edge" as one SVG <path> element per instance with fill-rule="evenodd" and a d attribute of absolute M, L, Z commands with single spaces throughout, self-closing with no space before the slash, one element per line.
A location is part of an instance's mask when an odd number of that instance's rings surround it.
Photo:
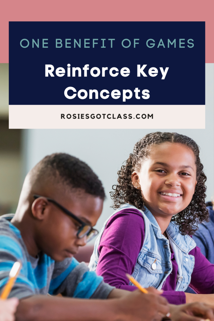
<path fill-rule="evenodd" d="M 9 129 L 9 64 L 0 64 L 0 215 L 14 212 L 21 190 L 21 130 Z"/>

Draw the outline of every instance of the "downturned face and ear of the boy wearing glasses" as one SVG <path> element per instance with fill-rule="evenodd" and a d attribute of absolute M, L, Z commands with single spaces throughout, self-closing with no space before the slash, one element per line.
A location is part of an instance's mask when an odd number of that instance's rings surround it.
<path fill-rule="evenodd" d="M 103 200 L 82 191 L 70 197 L 55 197 L 55 200 L 87 224 L 94 226 L 102 213 Z M 38 202 L 38 204 L 36 204 Z M 39 203 L 40 202 L 40 203 Z M 62 261 L 86 245 L 86 236 L 77 238 L 80 224 L 56 205 L 40 198 L 34 201 L 32 213 L 36 214 L 36 243 L 38 248 L 55 261 Z"/>

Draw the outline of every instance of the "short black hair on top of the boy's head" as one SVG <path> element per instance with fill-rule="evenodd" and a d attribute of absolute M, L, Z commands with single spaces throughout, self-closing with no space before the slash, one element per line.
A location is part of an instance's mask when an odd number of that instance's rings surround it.
<path fill-rule="evenodd" d="M 98 176 L 82 160 L 66 153 L 54 153 L 44 157 L 36 168 L 42 175 L 60 177 L 71 188 L 81 188 L 86 193 L 105 199 L 105 191 Z"/>

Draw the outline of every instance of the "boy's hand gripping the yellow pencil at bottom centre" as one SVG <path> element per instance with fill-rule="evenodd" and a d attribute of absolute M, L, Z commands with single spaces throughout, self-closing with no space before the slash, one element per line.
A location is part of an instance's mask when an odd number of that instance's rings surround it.
<path fill-rule="evenodd" d="M 116 309 L 121 314 L 119 319 L 125 321 L 161 320 L 169 312 L 169 304 L 159 294 L 160 292 L 156 289 L 150 289 L 148 294 L 140 290 L 130 292 L 125 298 L 120 299 L 119 306 L 117 301 Z"/>

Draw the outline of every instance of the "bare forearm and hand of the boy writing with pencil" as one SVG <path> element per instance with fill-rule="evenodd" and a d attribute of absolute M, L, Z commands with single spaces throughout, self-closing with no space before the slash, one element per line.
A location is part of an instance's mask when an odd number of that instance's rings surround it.
<path fill-rule="evenodd" d="M 165 298 L 139 290 L 111 300 L 32 296 L 20 301 L 16 321 L 152 321 L 168 312 Z"/>

